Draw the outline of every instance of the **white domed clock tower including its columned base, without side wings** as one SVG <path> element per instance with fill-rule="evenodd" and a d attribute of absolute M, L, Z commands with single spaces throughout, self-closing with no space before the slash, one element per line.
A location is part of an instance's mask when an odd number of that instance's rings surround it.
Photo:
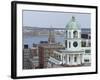
<path fill-rule="evenodd" d="M 81 65 L 84 51 L 81 48 L 80 25 L 74 16 L 66 26 L 65 48 L 65 63 L 67 65 Z"/>

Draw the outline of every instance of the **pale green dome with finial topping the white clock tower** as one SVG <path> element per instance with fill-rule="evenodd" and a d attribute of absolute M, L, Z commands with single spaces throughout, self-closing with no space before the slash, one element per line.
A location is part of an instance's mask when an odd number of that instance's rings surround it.
<path fill-rule="evenodd" d="M 68 30 L 77 30 L 77 29 L 80 29 L 79 28 L 79 24 L 78 22 L 76 21 L 75 17 L 72 16 L 72 19 L 69 21 L 69 23 L 66 25 L 66 29 Z"/>

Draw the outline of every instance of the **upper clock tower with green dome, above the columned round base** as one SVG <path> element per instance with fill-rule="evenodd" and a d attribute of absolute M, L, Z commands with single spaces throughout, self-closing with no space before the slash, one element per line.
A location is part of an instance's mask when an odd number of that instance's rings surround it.
<path fill-rule="evenodd" d="M 81 30 L 74 16 L 66 25 L 65 32 L 65 48 L 66 50 L 81 49 Z"/>

